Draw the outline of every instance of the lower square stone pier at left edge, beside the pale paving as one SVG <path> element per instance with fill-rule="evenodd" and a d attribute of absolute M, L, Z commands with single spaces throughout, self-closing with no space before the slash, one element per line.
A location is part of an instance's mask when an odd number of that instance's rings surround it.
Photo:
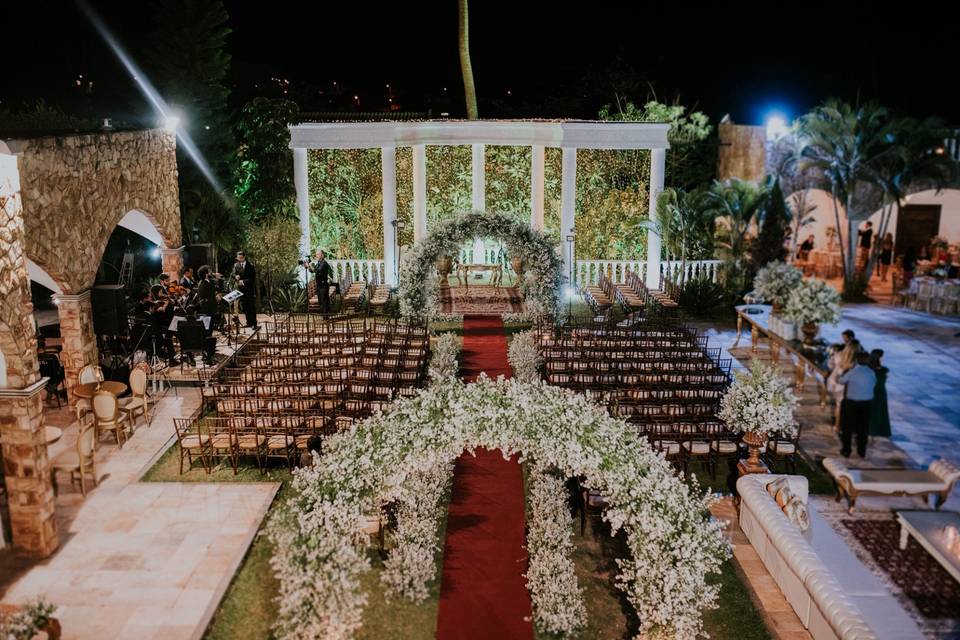
<path fill-rule="evenodd" d="M 25 389 L 0 389 L 0 441 L 13 544 L 41 556 L 51 555 L 60 544 L 43 429 L 41 392 L 46 384 L 41 378 Z"/>

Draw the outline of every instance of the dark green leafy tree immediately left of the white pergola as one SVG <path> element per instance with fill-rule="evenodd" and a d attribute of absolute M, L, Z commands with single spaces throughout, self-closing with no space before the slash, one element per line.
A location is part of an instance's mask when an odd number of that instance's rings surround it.
<path fill-rule="evenodd" d="M 297 120 L 299 112 L 295 102 L 262 97 L 245 104 L 240 112 L 233 193 L 240 212 L 253 223 L 294 213 L 296 191 L 287 125 Z"/>

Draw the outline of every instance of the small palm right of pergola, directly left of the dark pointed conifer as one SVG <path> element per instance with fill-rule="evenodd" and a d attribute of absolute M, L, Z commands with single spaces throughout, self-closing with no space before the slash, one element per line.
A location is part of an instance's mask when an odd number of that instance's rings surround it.
<path fill-rule="evenodd" d="M 745 288 L 750 226 L 757 221 L 769 195 L 770 187 L 766 184 L 731 178 L 726 182 L 714 181 L 704 196 L 706 212 L 725 222 L 725 228 L 718 229 L 717 240 L 727 263 L 727 283 L 732 288 Z"/>

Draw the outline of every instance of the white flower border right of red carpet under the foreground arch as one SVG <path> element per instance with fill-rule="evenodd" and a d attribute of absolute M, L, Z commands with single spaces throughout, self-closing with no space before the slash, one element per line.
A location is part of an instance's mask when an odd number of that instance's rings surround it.
<path fill-rule="evenodd" d="M 564 479 L 547 469 L 531 470 L 527 509 L 527 588 L 537 628 L 566 637 L 583 627 L 587 609 L 573 563 L 570 507 Z"/>

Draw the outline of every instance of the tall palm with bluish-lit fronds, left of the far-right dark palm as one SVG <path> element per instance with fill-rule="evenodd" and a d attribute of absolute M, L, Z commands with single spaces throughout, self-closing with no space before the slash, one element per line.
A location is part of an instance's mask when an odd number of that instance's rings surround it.
<path fill-rule="evenodd" d="M 807 169 L 822 174 L 830 187 L 834 220 L 840 239 L 845 293 L 857 290 L 857 228 L 882 201 L 875 170 L 894 153 L 889 112 L 876 104 L 851 106 L 828 100 L 800 119 L 802 155 Z M 847 215 L 844 247 L 840 207 Z"/>

